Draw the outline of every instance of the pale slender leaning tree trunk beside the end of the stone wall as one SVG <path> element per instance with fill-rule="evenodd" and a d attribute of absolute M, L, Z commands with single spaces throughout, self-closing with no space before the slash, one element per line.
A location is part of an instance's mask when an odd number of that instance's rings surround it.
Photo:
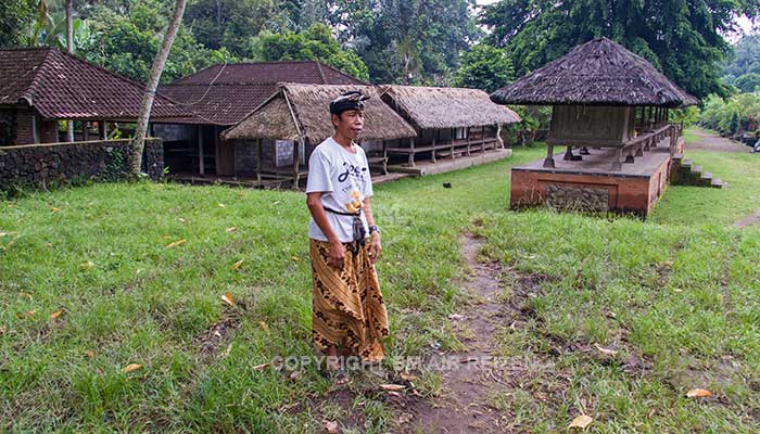
<path fill-rule="evenodd" d="M 159 87 L 161 73 L 164 72 L 164 65 L 166 64 L 166 59 L 169 55 L 169 51 L 172 51 L 174 38 L 177 36 L 177 30 L 182 22 L 186 3 L 187 0 L 177 0 L 177 4 L 174 8 L 174 14 L 172 15 L 172 21 L 169 21 L 169 25 L 166 28 L 166 34 L 164 35 L 164 40 L 161 42 L 159 53 L 156 53 L 155 59 L 153 60 L 151 75 L 148 78 L 148 84 L 145 85 L 145 93 L 142 95 L 142 106 L 140 107 L 140 116 L 137 120 L 137 129 L 135 130 L 135 139 L 132 141 L 132 158 L 130 167 L 132 176 L 140 175 L 140 167 L 142 166 L 142 150 L 145 148 L 148 120 L 150 119 L 151 108 L 153 107 L 155 89 Z"/>

